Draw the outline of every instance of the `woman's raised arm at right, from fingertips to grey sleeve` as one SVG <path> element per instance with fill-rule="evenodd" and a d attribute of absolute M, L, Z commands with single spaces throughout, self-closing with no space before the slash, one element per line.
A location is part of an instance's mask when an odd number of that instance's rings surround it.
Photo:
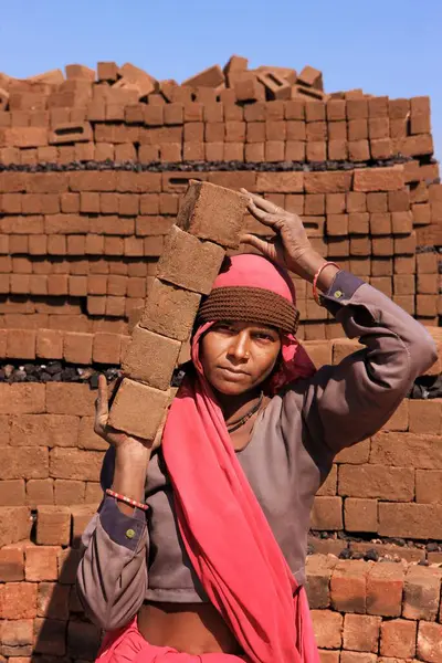
<path fill-rule="evenodd" d="M 299 217 L 248 194 L 250 212 L 276 234 L 270 242 L 254 235 L 243 241 L 311 283 L 320 273 L 320 303 L 348 338 L 359 338 L 366 346 L 337 366 L 320 368 L 307 388 L 305 382 L 295 383 L 285 394 L 286 407 L 291 409 L 293 399 L 295 410 L 304 394 L 308 434 L 337 453 L 388 421 L 414 379 L 436 360 L 435 345 L 425 328 L 391 299 L 314 251 Z"/>

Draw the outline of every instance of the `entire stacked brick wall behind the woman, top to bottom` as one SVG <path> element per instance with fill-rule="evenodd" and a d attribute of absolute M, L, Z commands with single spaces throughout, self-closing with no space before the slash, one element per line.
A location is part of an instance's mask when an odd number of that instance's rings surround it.
<path fill-rule="evenodd" d="M 0 75 L 4 361 L 118 366 L 190 178 L 296 211 L 324 255 L 442 341 L 442 187 L 427 97 L 326 95 L 312 67 L 251 72 L 239 57 L 182 86 L 114 63 L 97 74 L 70 65 L 66 78 Z M 311 286 L 296 285 L 301 338 L 317 366 L 336 364 L 357 344 L 337 338 Z M 1 663 L 96 653 L 99 631 L 73 587 L 101 499 L 94 400 L 87 385 L 0 383 Z M 442 540 L 441 408 L 403 401 L 337 456 L 318 492 L 307 570 L 324 663 L 442 661 L 442 552 L 425 547 Z M 369 549 L 402 561 L 335 557 Z"/>

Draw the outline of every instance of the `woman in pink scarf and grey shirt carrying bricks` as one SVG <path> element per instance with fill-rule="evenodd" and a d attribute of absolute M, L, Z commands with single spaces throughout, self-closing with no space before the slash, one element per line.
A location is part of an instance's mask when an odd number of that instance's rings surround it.
<path fill-rule="evenodd" d="M 303 588 L 315 493 L 336 453 L 378 431 L 436 359 L 424 328 L 327 263 L 298 217 L 249 196 L 276 239 L 243 238 L 266 257 L 233 257 L 200 307 L 160 448 L 107 425 L 99 385 L 114 493 L 83 536 L 77 587 L 108 631 L 101 663 L 318 661 Z M 315 371 L 285 269 L 366 348 Z"/>

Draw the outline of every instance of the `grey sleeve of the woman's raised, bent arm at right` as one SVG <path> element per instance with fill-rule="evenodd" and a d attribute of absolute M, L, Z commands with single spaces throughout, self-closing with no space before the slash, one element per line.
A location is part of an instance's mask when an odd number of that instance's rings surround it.
<path fill-rule="evenodd" d="M 366 346 L 337 366 L 324 366 L 304 383 L 302 415 L 307 438 L 332 454 L 375 434 L 407 396 L 414 379 L 438 358 L 425 328 L 386 295 L 339 272 L 324 306 L 348 338 Z M 294 385 L 285 394 L 299 403 Z"/>

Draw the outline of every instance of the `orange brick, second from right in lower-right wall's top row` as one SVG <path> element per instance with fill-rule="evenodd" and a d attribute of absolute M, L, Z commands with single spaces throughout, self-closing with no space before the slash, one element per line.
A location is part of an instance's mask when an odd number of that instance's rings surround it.
<path fill-rule="evenodd" d="M 403 568 L 393 562 L 371 567 L 367 577 L 367 612 L 400 617 L 404 586 Z"/>

